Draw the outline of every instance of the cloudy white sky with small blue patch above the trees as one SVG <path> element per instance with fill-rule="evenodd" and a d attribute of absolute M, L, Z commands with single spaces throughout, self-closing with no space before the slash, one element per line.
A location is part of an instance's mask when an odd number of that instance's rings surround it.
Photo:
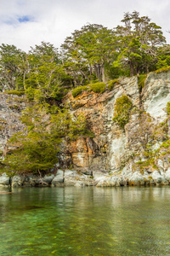
<path fill-rule="evenodd" d="M 0 44 L 26 52 L 42 41 L 59 48 L 87 23 L 114 28 L 134 10 L 161 26 L 170 44 L 169 0 L 0 0 Z"/>

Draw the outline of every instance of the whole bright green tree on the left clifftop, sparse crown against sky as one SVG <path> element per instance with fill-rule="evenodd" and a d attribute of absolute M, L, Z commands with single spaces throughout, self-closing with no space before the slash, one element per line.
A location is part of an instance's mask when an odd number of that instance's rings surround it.
<path fill-rule="evenodd" d="M 29 73 L 26 76 L 26 95 L 37 102 L 60 100 L 65 95 L 66 75 L 59 53 L 53 44 L 42 42 L 31 48 L 28 55 Z"/>

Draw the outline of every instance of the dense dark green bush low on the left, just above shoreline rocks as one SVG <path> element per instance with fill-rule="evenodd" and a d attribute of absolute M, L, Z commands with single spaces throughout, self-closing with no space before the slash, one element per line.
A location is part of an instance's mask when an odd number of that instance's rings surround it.
<path fill-rule="evenodd" d="M 56 139 L 47 131 L 29 131 L 27 135 L 16 134 L 9 141 L 14 147 L 3 160 L 4 172 L 39 173 L 46 172 L 57 162 L 59 151 Z"/>

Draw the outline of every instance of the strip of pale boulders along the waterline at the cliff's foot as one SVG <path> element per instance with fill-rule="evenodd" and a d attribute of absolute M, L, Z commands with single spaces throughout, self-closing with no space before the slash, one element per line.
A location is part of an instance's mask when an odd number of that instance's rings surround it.
<path fill-rule="evenodd" d="M 55 174 L 43 177 L 36 175 L 8 177 L 6 173 L 0 176 L 0 188 L 20 187 L 126 187 L 126 186 L 159 186 L 170 185 L 170 173 L 154 171 L 151 176 L 132 172 L 128 175 L 94 172 L 92 175 L 75 170 L 58 170 Z"/>

